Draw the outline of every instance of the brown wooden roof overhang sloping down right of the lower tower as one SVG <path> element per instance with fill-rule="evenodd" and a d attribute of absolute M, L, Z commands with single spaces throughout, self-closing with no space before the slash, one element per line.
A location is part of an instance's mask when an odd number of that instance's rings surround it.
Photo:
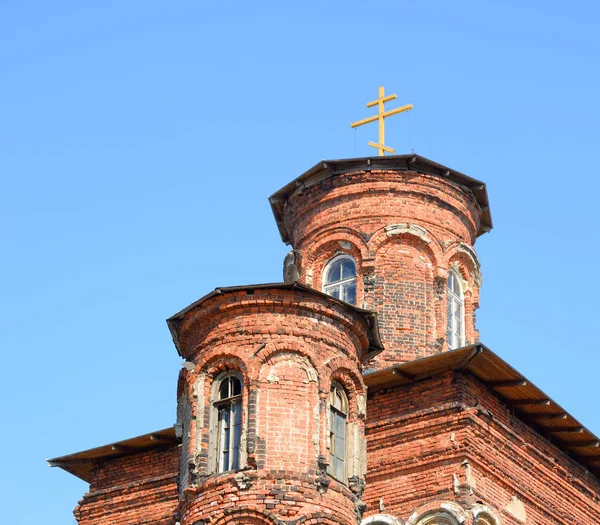
<path fill-rule="evenodd" d="M 600 478 L 600 440 L 531 381 L 482 344 L 363 375 L 369 389 L 407 385 L 451 370 L 485 384 L 524 423 Z"/>

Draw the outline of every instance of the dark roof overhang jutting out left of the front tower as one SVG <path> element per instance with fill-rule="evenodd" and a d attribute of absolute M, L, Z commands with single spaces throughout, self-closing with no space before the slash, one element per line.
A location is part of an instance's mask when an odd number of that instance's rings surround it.
<path fill-rule="evenodd" d="M 93 468 L 97 463 L 108 459 L 140 454 L 153 449 L 175 447 L 178 443 L 175 428 L 170 427 L 151 432 L 150 434 L 144 434 L 143 436 L 117 441 L 109 445 L 91 448 L 46 461 L 48 461 L 51 467 L 60 467 L 83 481 L 90 483 Z"/>

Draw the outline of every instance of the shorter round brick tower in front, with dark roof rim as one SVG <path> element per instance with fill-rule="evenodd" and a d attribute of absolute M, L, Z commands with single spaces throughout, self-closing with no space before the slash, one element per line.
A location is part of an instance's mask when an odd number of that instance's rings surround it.
<path fill-rule="evenodd" d="M 187 360 L 181 524 L 356 523 L 375 316 L 283 283 L 217 289 L 169 327 Z"/>

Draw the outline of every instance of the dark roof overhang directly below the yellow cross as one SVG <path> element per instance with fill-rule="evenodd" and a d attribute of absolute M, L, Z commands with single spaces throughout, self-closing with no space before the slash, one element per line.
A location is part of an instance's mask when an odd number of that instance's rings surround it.
<path fill-rule="evenodd" d="M 363 170 L 414 171 L 451 180 L 471 191 L 481 208 L 482 220 L 477 235 L 489 232 L 493 227 L 485 183 L 412 153 L 408 155 L 389 155 L 384 157 L 323 160 L 315 164 L 308 171 L 304 172 L 298 178 L 294 179 L 269 197 L 271 209 L 273 210 L 273 215 L 275 216 L 275 221 L 277 222 L 277 227 L 279 228 L 279 233 L 283 242 L 286 244 L 290 243 L 290 239 L 283 225 L 283 209 L 285 202 L 292 194 L 317 184 L 328 177 Z"/>

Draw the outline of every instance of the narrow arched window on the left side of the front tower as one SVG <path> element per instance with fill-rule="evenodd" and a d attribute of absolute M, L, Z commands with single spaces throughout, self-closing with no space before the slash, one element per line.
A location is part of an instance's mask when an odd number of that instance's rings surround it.
<path fill-rule="evenodd" d="M 219 376 L 212 404 L 215 470 L 236 470 L 242 441 L 242 380 L 230 372 Z"/>

